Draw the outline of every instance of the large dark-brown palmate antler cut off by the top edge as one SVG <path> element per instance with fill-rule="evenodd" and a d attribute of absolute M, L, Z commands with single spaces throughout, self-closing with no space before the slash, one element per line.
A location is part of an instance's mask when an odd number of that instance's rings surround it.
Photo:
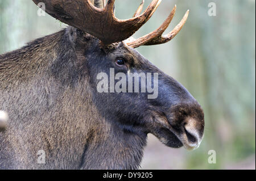
<path fill-rule="evenodd" d="M 104 9 L 92 5 L 89 0 L 32 0 L 43 2 L 46 12 L 61 22 L 85 31 L 109 45 L 126 40 L 151 18 L 161 0 L 153 0 L 139 16 L 119 20 L 114 15 L 114 2 L 109 0 Z"/>

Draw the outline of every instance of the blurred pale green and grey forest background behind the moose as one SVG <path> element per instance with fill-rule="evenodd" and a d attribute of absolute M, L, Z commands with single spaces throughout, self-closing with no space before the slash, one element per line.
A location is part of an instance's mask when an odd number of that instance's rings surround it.
<path fill-rule="evenodd" d="M 210 2 L 216 16 L 208 14 Z M 116 16 L 130 18 L 139 3 L 117 0 Z M 158 28 L 175 4 L 168 31 L 189 9 L 183 30 L 170 43 L 138 50 L 199 100 L 205 135 L 194 151 L 168 148 L 149 136 L 142 169 L 255 169 L 255 1 L 164 0 L 134 36 Z M 0 0 L 0 54 L 66 27 L 37 12 L 31 0 Z M 216 151 L 215 164 L 208 163 L 209 150 Z"/>

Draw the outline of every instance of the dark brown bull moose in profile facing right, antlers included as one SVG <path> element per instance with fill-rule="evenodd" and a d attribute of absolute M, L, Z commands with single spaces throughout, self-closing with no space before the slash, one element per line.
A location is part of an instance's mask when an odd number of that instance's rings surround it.
<path fill-rule="evenodd" d="M 9 116 L 0 131 L 0 169 L 139 169 L 148 133 L 171 148 L 200 145 L 200 104 L 135 50 L 173 39 L 189 11 L 167 35 L 176 6 L 162 26 L 135 39 L 160 0 L 143 12 L 142 1 L 127 20 L 115 17 L 114 0 L 32 1 L 68 27 L 0 55 L 0 110 Z M 158 73 L 158 96 L 98 92 L 97 75 L 110 69 Z"/>

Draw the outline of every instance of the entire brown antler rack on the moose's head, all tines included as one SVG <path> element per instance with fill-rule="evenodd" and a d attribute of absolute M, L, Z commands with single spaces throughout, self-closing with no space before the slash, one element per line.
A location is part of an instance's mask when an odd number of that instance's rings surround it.
<path fill-rule="evenodd" d="M 46 12 L 61 22 L 67 23 L 79 30 L 85 31 L 101 40 L 102 45 L 110 45 L 126 40 L 130 47 L 137 48 L 141 45 L 163 44 L 173 39 L 181 30 L 188 18 L 184 15 L 181 22 L 167 35 L 163 32 L 167 29 L 174 17 L 176 5 L 166 21 L 154 32 L 151 32 L 139 39 L 128 39 L 139 30 L 154 14 L 162 0 L 153 0 L 147 9 L 141 14 L 144 0 L 139 5 L 133 18 L 119 20 L 114 15 L 115 0 L 102 0 L 103 9 L 93 6 L 90 0 L 32 0 L 36 4 L 43 2 L 46 5 Z M 141 15 L 139 15 L 141 14 Z"/>

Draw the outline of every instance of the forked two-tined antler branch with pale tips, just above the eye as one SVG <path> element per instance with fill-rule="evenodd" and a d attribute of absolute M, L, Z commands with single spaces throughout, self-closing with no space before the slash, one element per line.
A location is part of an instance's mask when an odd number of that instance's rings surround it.
<path fill-rule="evenodd" d="M 127 45 L 129 45 L 130 47 L 133 47 L 133 48 L 137 48 L 142 45 L 163 44 L 163 43 L 167 43 L 168 41 L 172 40 L 177 35 L 177 33 L 181 30 L 181 28 L 184 26 L 184 24 L 188 18 L 189 10 L 185 13 L 185 15 L 181 19 L 180 23 L 177 24 L 177 26 L 174 28 L 174 30 L 172 30 L 167 35 L 163 36 L 163 32 L 166 31 L 167 27 L 171 23 L 171 20 L 174 17 L 175 12 L 176 12 L 176 5 L 175 5 L 174 9 L 172 9 L 171 14 L 168 16 L 166 21 L 158 29 L 156 29 L 155 31 L 153 31 L 151 33 L 148 33 L 145 36 L 140 37 L 139 39 L 128 40 Z"/>

